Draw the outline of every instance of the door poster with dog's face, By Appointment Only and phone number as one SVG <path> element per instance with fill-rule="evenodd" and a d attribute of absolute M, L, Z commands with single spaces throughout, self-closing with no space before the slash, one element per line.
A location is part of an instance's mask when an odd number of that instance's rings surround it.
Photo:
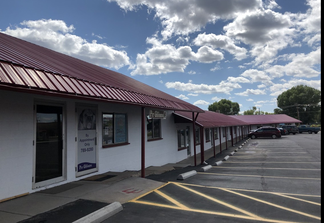
<path fill-rule="evenodd" d="M 77 108 L 77 172 L 97 168 L 96 109 Z M 90 171 L 88 171 L 90 170 Z M 80 174 L 79 174 L 80 175 Z"/>

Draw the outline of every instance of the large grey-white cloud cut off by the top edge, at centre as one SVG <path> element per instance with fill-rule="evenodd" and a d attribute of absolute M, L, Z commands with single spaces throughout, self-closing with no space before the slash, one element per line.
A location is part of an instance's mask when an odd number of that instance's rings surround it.
<path fill-rule="evenodd" d="M 188 35 L 200 31 L 208 23 L 218 19 L 232 19 L 238 13 L 253 10 L 262 6 L 260 0 L 108 0 L 117 2 L 124 10 L 136 10 L 145 5 L 154 11 L 163 27 L 161 35 L 168 39 L 173 35 Z"/>

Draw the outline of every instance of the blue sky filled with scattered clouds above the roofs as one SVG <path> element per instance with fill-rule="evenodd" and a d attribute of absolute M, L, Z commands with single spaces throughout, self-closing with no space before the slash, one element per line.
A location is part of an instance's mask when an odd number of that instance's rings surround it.
<path fill-rule="evenodd" d="M 321 90 L 320 0 L 11 0 L 0 31 L 208 110 L 273 112 L 304 84 Z M 1 44 L 1 43 L 0 43 Z"/>

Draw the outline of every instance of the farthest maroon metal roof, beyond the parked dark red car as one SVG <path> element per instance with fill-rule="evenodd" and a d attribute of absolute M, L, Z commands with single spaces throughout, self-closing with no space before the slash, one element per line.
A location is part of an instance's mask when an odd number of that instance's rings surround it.
<path fill-rule="evenodd" d="M 249 123 L 249 125 L 257 124 L 273 124 L 273 123 L 300 123 L 298 119 L 280 114 L 280 115 L 230 115 L 230 117 Z"/>

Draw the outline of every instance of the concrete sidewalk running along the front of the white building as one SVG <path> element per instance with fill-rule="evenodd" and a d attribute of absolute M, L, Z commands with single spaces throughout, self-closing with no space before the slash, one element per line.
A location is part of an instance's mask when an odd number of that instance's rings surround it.
<path fill-rule="evenodd" d="M 227 147 L 231 147 L 230 141 L 227 141 Z M 222 143 L 224 150 L 226 142 Z M 219 145 L 215 147 L 215 153 L 220 153 Z M 196 154 L 196 165 L 201 164 L 200 155 Z M 204 160 L 213 156 L 213 148 L 204 151 Z M 192 154 L 178 163 L 147 167 L 145 176 L 193 166 L 194 163 Z M 0 223 L 74 222 L 114 202 L 124 204 L 165 184 L 140 176 L 141 171 L 107 172 L 1 202 Z"/>

